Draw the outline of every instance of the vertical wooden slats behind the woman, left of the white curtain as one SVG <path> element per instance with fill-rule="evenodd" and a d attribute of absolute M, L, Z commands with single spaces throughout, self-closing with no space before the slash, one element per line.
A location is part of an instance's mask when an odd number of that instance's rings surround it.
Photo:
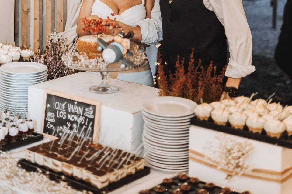
<path fill-rule="evenodd" d="M 43 0 L 33 0 L 34 5 L 30 5 L 30 0 L 15 1 L 15 30 L 14 39 L 16 45 L 19 43 L 21 37 L 21 48 L 28 49 L 30 47 L 30 33 L 33 33 L 34 43 L 32 48 L 34 52 L 38 47 L 43 48 L 43 33 L 45 38 L 49 33 L 54 32 L 57 28 L 58 32 L 64 32 L 66 25 L 66 4 L 67 0 L 46 0 L 43 5 Z M 56 5 L 57 4 L 57 10 Z M 21 21 L 19 6 L 21 6 Z M 46 10 L 45 26 L 43 27 L 43 6 Z M 30 32 L 30 10 L 33 10 L 33 32 Z M 56 16 L 57 13 L 57 16 Z M 55 17 L 57 17 L 57 24 L 55 24 Z M 22 24 L 21 30 L 19 29 L 19 22 Z M 44 29 L 44 32 L 43 32 Z M 46 42 L 47 44 L 47 42 Z"/>

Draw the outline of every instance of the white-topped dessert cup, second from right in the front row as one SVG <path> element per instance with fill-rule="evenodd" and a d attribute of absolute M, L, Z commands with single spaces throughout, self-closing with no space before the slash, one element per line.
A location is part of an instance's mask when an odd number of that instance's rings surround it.
<path fill-rule="evenodd" d="M 279 120 L 272 119 L 265 122 L 264 129 L 267 132 L 267 135 L 279 138 L 285 131 L 286 125 Z"/>

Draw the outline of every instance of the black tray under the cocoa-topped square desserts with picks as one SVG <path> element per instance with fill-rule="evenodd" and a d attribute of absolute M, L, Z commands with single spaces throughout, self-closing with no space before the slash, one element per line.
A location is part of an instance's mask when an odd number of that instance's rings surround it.
<path fill-rule="evenodd" d="M 133 175 L 126 176 L 125 178 L 123 178 L 117 182 L 111 183 L 102 189 L 97 189 L 96 187 L 91 186 L 88 182 L 75 179 L 74 177 L 64 176 L 64 174 L 61 172 L 54 172 L 51 169 L 47 169 L 44 166 L 40 166 L 38 164 L 28 162 L 25 159 L 19 160 L 18 164 L 23 169 L 26 169 L 27 171 L 38 172 L 38 170 L 41 170 L 43 172 L 43 174 L 45 174 L 49 177 L 50 180 L 53 180 L 56 182 L 59 182 L 60 180 L 62 180 L 64 182 L 67 182 L 67 184 L 69 186 L 71 186 L 72 188 L 74 188 L 76 190 L 79 190 L 79 191 L 87 190 L 87 191 L 91 191 L 91 192 L 97 193 L 97 194 L 98 193 L 104 194 L 104 193 L 111 192 L 115 189 L 118 189 L 124 185 L 127 185 L 127 184 L 129 184 L 137 179 L 140 179 L 140 178 L 150 174 L 150 168 L 147 166 L 144 166 L 143 170 L 138 171 Z M 62 179 L 62 177 L 63 177 L 63 179 Z"/>

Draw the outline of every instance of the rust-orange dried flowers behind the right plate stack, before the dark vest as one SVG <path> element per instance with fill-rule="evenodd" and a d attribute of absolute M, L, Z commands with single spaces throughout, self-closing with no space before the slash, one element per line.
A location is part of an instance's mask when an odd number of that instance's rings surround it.
<path fill-rule="evenodd" d="M 190 62 L 188 72 L 185 73 L 184 59 L 176 62 L 176 71 L 173 75 L 169 74 L 169 80 L 166 78 L 164 72 L 164 65 L 160 52 L 158 53 L 158 84 L 159 96 L 176 96 L 193 100 L 200 104 L 200 99 L 203 102 L 211 103 L 220 100 L 223 92 L 222 83 L 226 66 L 221 71 L 221 74 L 216 74 L 216 67 L 213 67 L 213 62 L 210 62 L 207 70 L 199 64 L 195 67 L 195 60 L 193 59 L 193 52 L 190 55 Z"/>

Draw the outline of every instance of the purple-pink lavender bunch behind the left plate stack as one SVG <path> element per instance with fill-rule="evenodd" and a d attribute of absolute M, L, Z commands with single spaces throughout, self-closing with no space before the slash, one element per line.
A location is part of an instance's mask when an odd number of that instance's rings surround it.
<path fill-rule="evenodd" d="M 61 78 L 74 73 L 74 69 L 68 68 L 62 61 L 63 54 L 73 52 L 76 50 L 77 38 L 73 40 L 70 45 L 64 45 L 64 38 L 54 36 L 52 33 L 50 37 L 49 45 L 41 51 L 38 48 L 37 53 L 31 59 L 31 62 L 42 63 L 48 67 L 48 80 Z"/>

